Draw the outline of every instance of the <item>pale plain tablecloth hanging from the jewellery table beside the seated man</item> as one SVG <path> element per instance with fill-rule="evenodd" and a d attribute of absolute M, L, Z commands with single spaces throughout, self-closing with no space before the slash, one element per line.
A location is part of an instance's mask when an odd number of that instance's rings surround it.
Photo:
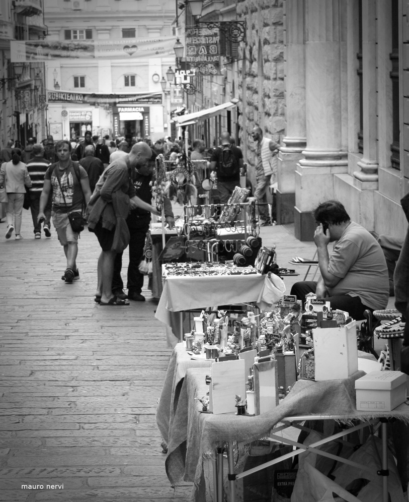
<path fill-rule="evenodd" d="M 155 317 L 166 325 L 171 346 L 182 340 L 182 312 L 213 305 L 253 303 L 265 310 L 277 302 L 285 286 L 274 274 L 166 276 Z M 176 338 L 175 338 L 176 337 Z"/>

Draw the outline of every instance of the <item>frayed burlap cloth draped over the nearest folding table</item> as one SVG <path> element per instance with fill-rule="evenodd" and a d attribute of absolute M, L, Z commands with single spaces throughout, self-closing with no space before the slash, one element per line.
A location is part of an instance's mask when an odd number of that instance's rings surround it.
<path fill-rule="evenodd" d="M 171 483 L 177 485 L 182 480 L 194 483 L 192 499 L 195 502 L 206 502 L 203 461 L 214 453 L 217 446 L 226 442 L 244 446 L 267 437 L 271 428 L 284 417 L 330 415 L 340 417 L 345 423 L 357 419 L 395 417 L 409 423 L 409 407 L 405 404 L 390 412 L 356 410 L 355 380 L 365 374 L 363 371 L 357 371 L 347 380 L 299 380 L 276 409 L 259 416 L 200 413 L 201 404 L 195 398 L 204 396 L 208 391 L 205 384 L 207 373 L 207 368 L 191 368 L 186 372 L 166 459 L 166 472 Z"/>

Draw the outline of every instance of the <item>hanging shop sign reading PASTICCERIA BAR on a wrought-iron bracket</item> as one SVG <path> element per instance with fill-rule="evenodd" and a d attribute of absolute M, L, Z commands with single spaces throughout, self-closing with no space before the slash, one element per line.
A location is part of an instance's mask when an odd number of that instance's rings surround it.
<path fill-rule="evenodd" d="M 186 28 L 186 62 L 205 75 L 220 75 L 219 31 L 217 28 Z"/>

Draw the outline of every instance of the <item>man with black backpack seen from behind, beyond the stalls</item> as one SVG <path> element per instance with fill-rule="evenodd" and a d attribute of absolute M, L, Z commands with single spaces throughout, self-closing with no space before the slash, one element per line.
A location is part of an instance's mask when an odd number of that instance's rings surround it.
<path fill-rule="evenodd" d="M 240 168 L 243 167 L 241 150 L 231 145 L 230 134 L 221 133 L 220 147 L 210 159 L 210 169 L 217 174 L 220 204 L 226 204 L 236 186 L 240 186 Z"/>

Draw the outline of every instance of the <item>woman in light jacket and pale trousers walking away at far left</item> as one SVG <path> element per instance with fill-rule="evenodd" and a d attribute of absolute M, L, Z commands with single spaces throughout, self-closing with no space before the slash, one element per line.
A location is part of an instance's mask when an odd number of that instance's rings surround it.
<path fill-rule="evenodd" d="M 21 239 L 20 229 L 24 195 L 26 193 L 25 186 L 31 186 L 31 178 L 26 164 L 21 161 L 21 150 L 14 148 L 12 160 L 2 164 L 0 168 L 0 188 L 6 187 L 8 197 L 6 205 L 6 239 L 10 239 L 13 231 L 16 232 L 16 240 Z"/>

